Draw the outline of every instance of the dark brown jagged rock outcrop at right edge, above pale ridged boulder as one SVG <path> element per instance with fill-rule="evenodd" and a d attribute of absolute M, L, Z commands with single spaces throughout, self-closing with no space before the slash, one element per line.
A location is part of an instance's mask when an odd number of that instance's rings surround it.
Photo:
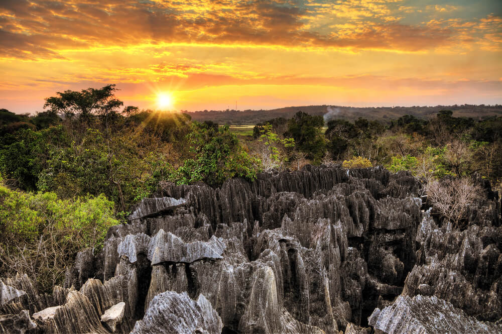
<path fill-rule="evenodd" d="M 438 227 L 426 215 L 416 241 L 417 264 L 403 295 L 434 295 L 479 320 L 502 317 L 502 227 Z"/>

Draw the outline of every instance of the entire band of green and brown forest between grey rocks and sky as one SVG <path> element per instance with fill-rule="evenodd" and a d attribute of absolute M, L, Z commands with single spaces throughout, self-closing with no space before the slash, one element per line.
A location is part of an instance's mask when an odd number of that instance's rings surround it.
<path fill-rule="evenodd" d="M 98 252 L 109 227 L 159 183 L 205 182 L 299 170 L 308 164 L 384 166 L 417 177 L 458 229 L 473 178 L 502 188 L 502 117 L 354 121 L 297 110 L 239 136 L 187 113 L 124 106 L 114 85 L 58 92 L 45 111 L 0 109 L 0 275 L 27 273 L 42 291 L 64 279 L 77 252 Z"/>

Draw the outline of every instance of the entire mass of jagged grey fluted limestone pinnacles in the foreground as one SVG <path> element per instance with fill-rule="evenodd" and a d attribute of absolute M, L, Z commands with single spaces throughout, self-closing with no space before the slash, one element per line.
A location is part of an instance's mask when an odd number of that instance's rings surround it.
<path fill-rule="evenodd" d="M 38 333 L 496 332 L 502 228 L 485 188 L 458 231 L 381 167 L 163 183 L 52 295 L 4 280 L 0 314 Z"/>

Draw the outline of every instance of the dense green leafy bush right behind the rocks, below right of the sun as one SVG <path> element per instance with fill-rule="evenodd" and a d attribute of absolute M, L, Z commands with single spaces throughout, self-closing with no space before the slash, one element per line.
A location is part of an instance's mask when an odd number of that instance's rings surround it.
<path fill-rule="evenodd" d="M 215 129 L 195 124 L 189 143 L 193 158 L 174 174 L 178 184 L 204 181 L 216 186 L 233 176 L 256 178 L 260 161 L 248 155 L 228 126 Z"/>

